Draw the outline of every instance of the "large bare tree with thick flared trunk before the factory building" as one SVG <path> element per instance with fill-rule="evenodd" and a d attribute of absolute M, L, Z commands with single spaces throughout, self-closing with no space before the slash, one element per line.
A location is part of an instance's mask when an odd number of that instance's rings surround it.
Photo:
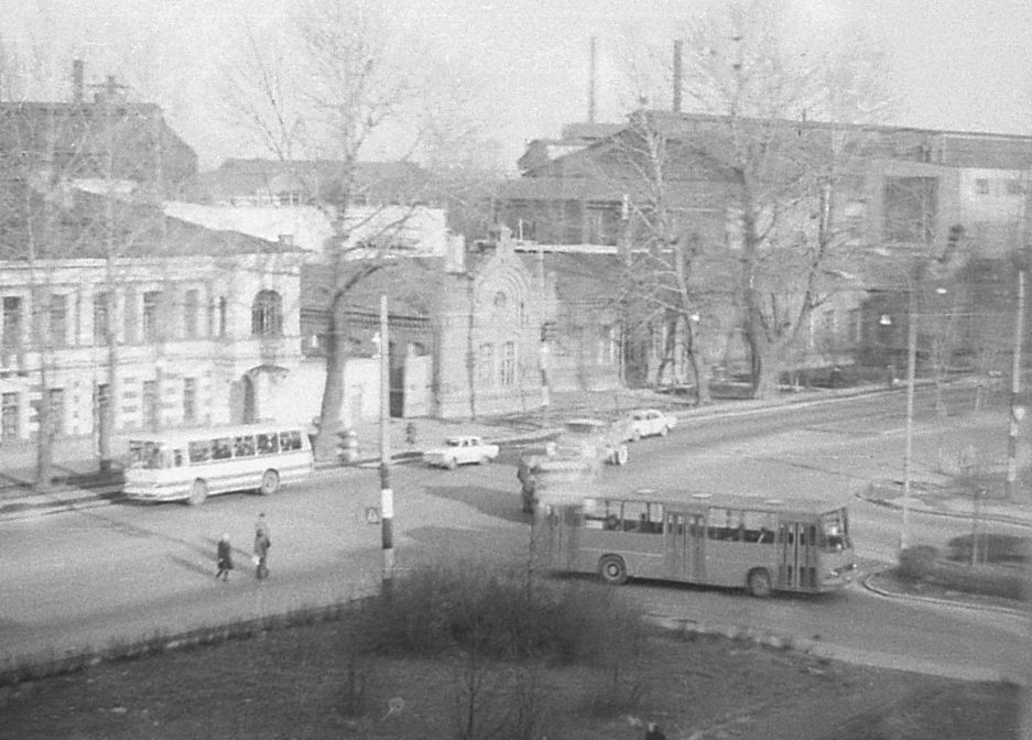
<path fill-rule="evenodd" d="M 684 89 L 694 110 L 714 115 L 686 124 L 681 140 L 728 175 L 727 246 L 757 398 L 776 388 L 801 330 L 828 298 L 827 275 L 845 244 L 836 205 L 875 139 L 855 124 L 886 105 L 877 85 L 883 61 L 863 42 L 792 48 L 779 28 L 776 11 L 760 2 L 715 6 L 681 28 Z"/>

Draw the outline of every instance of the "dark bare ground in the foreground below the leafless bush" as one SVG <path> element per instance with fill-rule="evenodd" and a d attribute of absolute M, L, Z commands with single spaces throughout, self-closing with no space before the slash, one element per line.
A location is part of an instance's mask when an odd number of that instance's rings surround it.
<path fill-rule="evenodd" d="M 647 721 L 670 740 L 1018 737 L 1014 687 L 724 639 L 656 632 L 616 670 L 470 655 L 349 664 L 340 644 L 341 625 L 324 623 L 6 687 L 0 738 L 630 740 Z"/>

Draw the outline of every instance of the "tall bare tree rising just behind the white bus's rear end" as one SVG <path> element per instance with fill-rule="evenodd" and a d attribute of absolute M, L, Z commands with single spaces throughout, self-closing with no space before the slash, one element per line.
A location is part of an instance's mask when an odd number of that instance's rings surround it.
<path fill-rule="evenodd" d="M 238 121 L 290 166 L 307 202 L 333 225 L 323 258 L 330 283 L 325 298 L 329 326 L 315 448 L 319 459 L 328 459 L 336 454 L 344 398 L 348 295 L 369 275 L 391 268 L 387 237 L 421 199 L 410 197 L 409 207 L 393 210 L 379 205 L 357 209 L 356 200 L 374 203 L 361 192 L 360 157 L 390 140 L 394 159 L 411 159 L 423 143 L 427 115 L 422 104 L 432 86 L 423 74 L 427 67 L 419 63 L 419 44 L 372 3 L 309 6 L 290 31 L 285 42 L 250 36 L 248 58 L 228 73 L 229 100 Z M 315 161 L 321 171 L 312 166 Z M 361 241 L 352 238 L 359 231 Z"/>

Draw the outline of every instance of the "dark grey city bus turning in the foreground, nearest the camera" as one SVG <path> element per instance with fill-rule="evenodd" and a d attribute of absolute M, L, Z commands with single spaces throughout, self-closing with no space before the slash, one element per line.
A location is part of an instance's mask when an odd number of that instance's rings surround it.
<path fill-rule="evenodd" d="M 537 562 L 567 573 L 772 591 L 823 592 L 852 580 L 846 507 L 752 496 L 640 490 L 623 498 L 543 499 Z"/>

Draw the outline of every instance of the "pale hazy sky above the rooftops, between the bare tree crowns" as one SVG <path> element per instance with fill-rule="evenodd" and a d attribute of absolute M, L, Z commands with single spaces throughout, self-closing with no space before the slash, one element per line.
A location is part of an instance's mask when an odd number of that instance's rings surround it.
<path fill-rule="evenodd" d="M 888 122 L 1032 134 L 1032 2 L 1028 0 L 785 0 L 799 44 L 860 26 L 889 55 L 898 99 Z M 671 44 L 671 19 L 696 0 L 381 0 L 399 26 L 461 66 L 481 128 L 512 165 L 532 139 L 587 120 L 590 39 L 597 41 L 597 120 L 627 112 L 619 48 L 629 37 Z M 243 29 L 275 33 L 297 0 L 0 0 L 0 43 L 45 59 L 48 90 L 70 94 L 70 58 L 87 84 L 115 75 L 161 105 L 203 168 L 260 156 L 225 122 L 221 76 Z M 656 107 L 670 100 L 653 101 Z M 385 149 L 367 159 L 389 156 Z"/>

